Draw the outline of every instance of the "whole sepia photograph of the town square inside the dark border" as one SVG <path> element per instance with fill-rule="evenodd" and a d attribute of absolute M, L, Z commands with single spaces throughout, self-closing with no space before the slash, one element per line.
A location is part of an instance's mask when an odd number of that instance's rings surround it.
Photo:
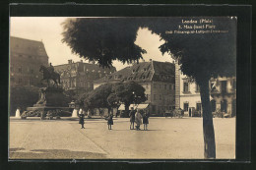
<path fill-rule="evenodd" d="M 9 160 L 235 159 L 237 17 L 10 17 Z"/>

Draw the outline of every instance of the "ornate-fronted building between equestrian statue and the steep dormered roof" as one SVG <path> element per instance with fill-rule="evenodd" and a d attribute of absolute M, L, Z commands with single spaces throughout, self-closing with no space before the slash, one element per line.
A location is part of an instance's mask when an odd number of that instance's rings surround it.
<path fill-rule="evenodd" d="M 72 89 L 77 93 L 94 89 L 94 81 L 114 73 L 116 69 L 101 68 L 94 63 L 68 61 L 68 64 L 54 66 L 54 71 L 60 74 L 60 82 L 63 88 Z"/>

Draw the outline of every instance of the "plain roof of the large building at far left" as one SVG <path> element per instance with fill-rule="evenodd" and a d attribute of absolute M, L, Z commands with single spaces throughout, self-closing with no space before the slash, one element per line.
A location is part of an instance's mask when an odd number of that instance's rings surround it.
<path fill-rule="evenodd" d="M 25 55 L 48 57 L 44 45 L 41 41 L 25 39 L 15 36 L 10 37 L 10 51 Z"/>

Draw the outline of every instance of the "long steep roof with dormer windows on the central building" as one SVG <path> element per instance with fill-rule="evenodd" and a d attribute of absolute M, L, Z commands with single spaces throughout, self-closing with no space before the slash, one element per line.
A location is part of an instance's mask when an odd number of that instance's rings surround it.
<path fill-rule="evenodd" d="M 126 67 L 118 72 L 110 74 L 99 80 L 95 84 L 120 82 L 120 81 L 136 81 L 136 82 L 171 82 L 174 83 L 175 66 L 168 62 L 142 62 L 133 66 Z"/>

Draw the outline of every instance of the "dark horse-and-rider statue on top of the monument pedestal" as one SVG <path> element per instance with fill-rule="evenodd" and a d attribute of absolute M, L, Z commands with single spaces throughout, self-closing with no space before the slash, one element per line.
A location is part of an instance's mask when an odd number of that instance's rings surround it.
<path fill-rule="evenodd" d="M 60 84 L 60 75 L 58 73 L 56 72 L 50 73 L 48 68 L 46 68 L 45 66 L 40 66 L 39 72 L 43 74 L 41 81 L 46 80 L 48 86 L 49 86 L 49 80 L 52 80 L 55 83 L 55 85 Z"/>

